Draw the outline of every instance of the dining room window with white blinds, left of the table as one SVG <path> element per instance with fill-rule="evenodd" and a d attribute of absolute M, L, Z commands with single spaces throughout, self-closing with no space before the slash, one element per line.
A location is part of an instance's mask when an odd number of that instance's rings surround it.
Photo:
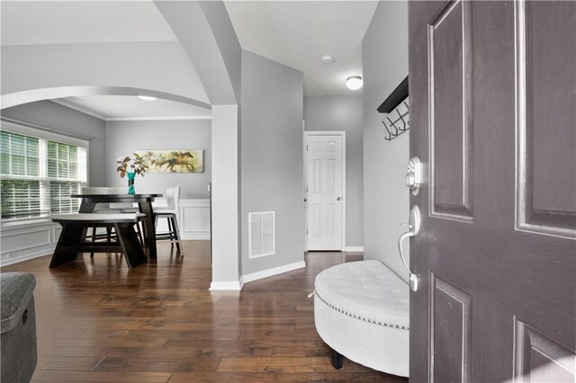
<path fill-rule="evenodd" d="M 2 221 L 76 212 L 86 184 L 88 143 L 2 122 Z"/>

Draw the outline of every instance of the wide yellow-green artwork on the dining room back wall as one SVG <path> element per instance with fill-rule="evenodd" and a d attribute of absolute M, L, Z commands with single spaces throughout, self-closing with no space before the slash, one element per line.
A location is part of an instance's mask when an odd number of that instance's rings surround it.
<path fill-rule="evenodd" d="M 147 173 L 203 173 L 203 149 L 136 150 L 148 165 Z"/>

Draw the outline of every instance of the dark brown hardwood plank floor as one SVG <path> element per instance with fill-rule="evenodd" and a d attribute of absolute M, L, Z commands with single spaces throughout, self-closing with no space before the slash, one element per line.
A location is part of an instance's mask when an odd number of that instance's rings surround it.
<path fill-rule="evenodd" d="M 185 256 L 159 245 L 157 263 L 87 255 L 49 270 L 49 256 L 2 268 L 36 276 L 38 367 L 33 381 L 301 382 L 406 379 L 329 362 L 307 295 L 316 274 L 362 254 L 315 253 L 306 269 L 211 292 L 207 241 Z"/>

